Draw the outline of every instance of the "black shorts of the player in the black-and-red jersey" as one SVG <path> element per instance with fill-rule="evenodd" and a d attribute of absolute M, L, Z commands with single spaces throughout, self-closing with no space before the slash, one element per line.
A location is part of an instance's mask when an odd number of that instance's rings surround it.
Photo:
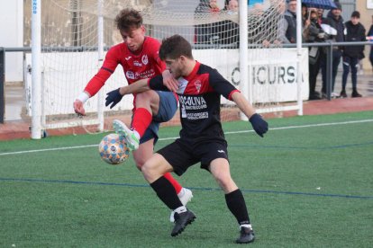
<path fill-rule="evenodd" d="M 214 140 L 191 146 L 182 139 L 177 140 L 168 146 L 161 148 L 158 152 L 174 168 L 177 175 L 182 175 L 190 166 L 201 162 L 201 168 L 209 171 L 209 165 L 215 158 L 228 159 L 227 143 Z"/>

